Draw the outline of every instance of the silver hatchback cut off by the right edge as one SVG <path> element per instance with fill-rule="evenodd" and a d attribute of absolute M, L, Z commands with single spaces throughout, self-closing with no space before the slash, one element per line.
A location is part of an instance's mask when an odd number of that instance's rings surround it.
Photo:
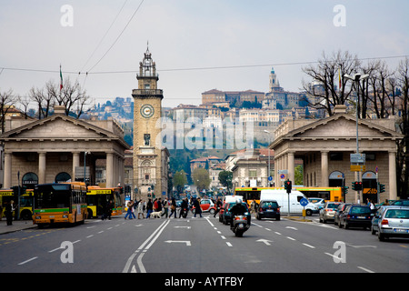
<path fill-rule="evenodd" d="M 409 238 L 409 207 L 395 206 L 384 209 L 378 220 L 378 238 L 384 241 L 387 237 Z"/>

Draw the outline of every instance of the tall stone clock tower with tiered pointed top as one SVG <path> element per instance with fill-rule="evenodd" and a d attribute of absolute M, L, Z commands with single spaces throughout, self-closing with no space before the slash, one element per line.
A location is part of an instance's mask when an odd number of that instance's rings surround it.
<path fill-rule="evenodd" d="M 157 88 L 159 76 L 149 48 L 146 49 L 134 97 L 134 199 L 158 198 L 167 193 L 167 176 L 163 166 L 161 126 L 163 91 Z M 167 159 L 167 156 L 164 156 Z M 164 183 L 165 182 L 165 183 Z M 154 199 L 152 199 L 154 200 Z"/>

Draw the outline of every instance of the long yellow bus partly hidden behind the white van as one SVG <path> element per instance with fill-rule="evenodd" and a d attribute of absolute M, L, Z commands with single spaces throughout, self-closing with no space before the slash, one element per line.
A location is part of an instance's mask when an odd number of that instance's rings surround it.
<path fill-rule="evenodd" d="M 263 189 L 283 189 L 284 187 L 236 187 L 234 195 L 243 196 L 243 199 L 249 206 L 254 201 L 260 204 L 260 194 Z M 317 197 L 326 201 L 344 202 L 342 187 L 304 187 L 293 186 L 292 190 L 300 191 L 307 198 Z"/>

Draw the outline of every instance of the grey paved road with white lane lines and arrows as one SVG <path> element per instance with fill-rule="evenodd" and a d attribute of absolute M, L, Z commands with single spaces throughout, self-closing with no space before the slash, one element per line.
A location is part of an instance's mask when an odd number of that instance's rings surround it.
<path fill-rule="evenodd" d="M 0 236 L 0 273 L 409 272 L 408 240 L 314 221 L 252 223 L 244 237 L 207 215 L 32 228 Z"/>

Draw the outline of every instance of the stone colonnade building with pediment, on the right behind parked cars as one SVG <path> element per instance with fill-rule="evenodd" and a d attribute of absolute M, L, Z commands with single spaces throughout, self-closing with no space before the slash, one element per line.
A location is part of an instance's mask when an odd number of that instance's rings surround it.
<path fill-rule="evenodd" d="M 319 120 L 287 120 L 275 131 L 275 181 L 279 170 L 288 170 L 294 181 L 294 159 L 304 160 L 304 186 L 348 186 L 346 202 L 377 201 L 376 176 L 385 185 L 384 199 L 396 199 L 396 133 L 394 119 L 359 119 L 359 153 L 365 154 L 365 170 L 352 172 L 350 154 L 356 153 L 356 119 L 345 113 L 344 105 L 335 106 L 335 114 Z M 358 174 L 360 173 L 360 174 Z M 352 190 L 352 182 L 362 175 L 362 196 Z"/>

